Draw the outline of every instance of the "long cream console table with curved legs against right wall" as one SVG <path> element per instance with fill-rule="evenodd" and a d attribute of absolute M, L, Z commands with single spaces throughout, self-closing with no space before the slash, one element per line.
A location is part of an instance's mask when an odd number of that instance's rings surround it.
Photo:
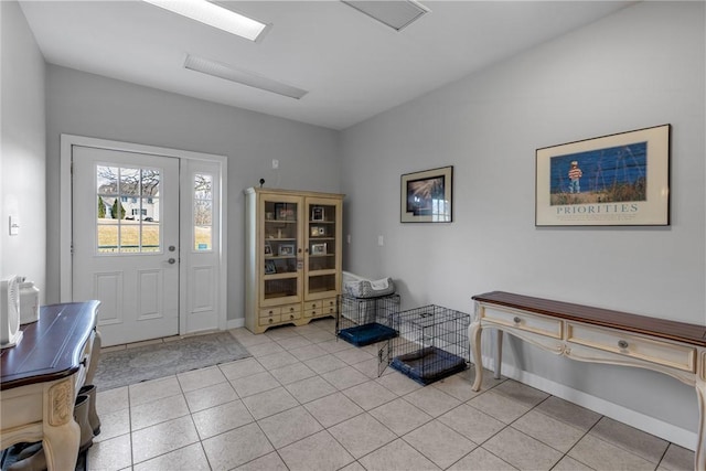
<path fill-rule="evenodd" d="M 496 378 L 503 332 L 573 360 L 664 373 L 696 389 L 699 420 L 694 467 L 706 469 L 706 327 L 502 291 L 478 295 L 473 300 L 475 314 L 469 325 L 475 363 L 473 390 L 480 389 L 483 379 L 483 328 L 498 332 Z"/>

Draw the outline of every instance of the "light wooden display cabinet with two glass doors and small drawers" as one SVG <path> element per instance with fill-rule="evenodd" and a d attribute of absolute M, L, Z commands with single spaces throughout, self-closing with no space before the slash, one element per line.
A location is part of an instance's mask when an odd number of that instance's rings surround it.
<path fill-rule="evenodd" d="M 245 327 L 334 315 L 341 293 L 343 195 L 245 191 Z"/>

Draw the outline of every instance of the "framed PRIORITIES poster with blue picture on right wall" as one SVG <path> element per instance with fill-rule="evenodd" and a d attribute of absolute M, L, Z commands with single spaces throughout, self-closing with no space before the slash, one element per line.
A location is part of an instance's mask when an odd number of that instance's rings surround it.
<path fill-rule="evenodd" d="M 537 149 L 536 226 L 670 224 L 671 125 Z"/>

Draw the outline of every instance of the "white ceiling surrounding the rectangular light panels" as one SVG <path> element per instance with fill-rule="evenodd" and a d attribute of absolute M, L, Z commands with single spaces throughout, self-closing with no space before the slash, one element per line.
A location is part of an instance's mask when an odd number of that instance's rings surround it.
<path fill-rule="evenodd" d="M 259 43 L 141 1 L 20 1 L 51 64 L 345 129 L 633 1 L 426 1 L 395 31 L 335 0 L 234 1 Z M 308 90 L 293 99 L 183 67 L 195 54 Z"/>

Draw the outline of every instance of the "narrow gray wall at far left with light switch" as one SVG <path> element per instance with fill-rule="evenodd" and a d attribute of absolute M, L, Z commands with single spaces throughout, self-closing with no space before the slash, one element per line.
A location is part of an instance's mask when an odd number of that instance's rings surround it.
<path fill-rule="evenodd" d="M 0 1 L 0 278 L 26 276 L 44 301 L 44 58 L 17 2 Z M 20 232 L 10 236 L 10 214 Z"/>

